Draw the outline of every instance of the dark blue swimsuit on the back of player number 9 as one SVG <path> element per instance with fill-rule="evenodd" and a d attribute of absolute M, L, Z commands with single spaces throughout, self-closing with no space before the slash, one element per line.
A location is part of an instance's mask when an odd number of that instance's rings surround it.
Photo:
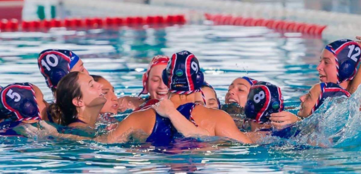
<path fill-rule="evenodd" d="M 190 111 L 194 103 L 186 103 L 177 108 L 177 110 L 189 120 L 191 115 Z M 178 131 L 174 128 L 173 124 L 168 118 L 162 117 L 156 113 L 156 121 L 151 135 L 147 138 L 146 142 L 151 142 L 156 146 L 168 145 L 172 142 Z"/>

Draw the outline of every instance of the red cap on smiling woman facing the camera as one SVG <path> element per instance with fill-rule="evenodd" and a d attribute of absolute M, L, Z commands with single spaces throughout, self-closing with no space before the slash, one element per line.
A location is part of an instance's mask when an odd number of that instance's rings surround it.
<path fill-rule="evenodd" d="M 149 77 L 149 72 L 151 71 L 151 69 L 156 65 L 167 64 L 168 61 L 169 61 L 169 57 L 166 55 L 156 55 L 155 57 L 152 58 L 152 61 L 148 65 L 147 71 L 144 72 L 144 74 L 143 74 L 143 78 L 142 78 L 143 90 L 142 90 L 142 92 L 139 93 L 139 95 L 148 94 L 148 89 L 147 89 L 148 77 Z"/>

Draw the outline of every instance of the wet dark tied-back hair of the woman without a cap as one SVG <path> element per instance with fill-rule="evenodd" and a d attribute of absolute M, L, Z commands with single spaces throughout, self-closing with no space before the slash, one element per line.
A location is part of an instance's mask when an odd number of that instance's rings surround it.
<path fill-rule="evenodd" d="M 82 92 L 78 84 L 81 72 L 70 72 L 64 76 L 56 88 L 56 102 L 49 106 L 49 112 L 53 121 L 66 126 L 78 119 L 77 107 L 73 104 L 74 98 L 82 98 Z"/>

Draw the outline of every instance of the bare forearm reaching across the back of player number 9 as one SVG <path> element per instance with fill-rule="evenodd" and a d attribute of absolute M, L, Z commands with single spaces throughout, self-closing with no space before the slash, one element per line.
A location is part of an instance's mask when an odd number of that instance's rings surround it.
<path fill-rule="evenodd" d="M 207 130 L 195 126 L 177 110 L 169 113 L 168 117 L 175 129 L 177 129 L 181 134 L 183 134 L 184 137 L 210 136 Z"/>

